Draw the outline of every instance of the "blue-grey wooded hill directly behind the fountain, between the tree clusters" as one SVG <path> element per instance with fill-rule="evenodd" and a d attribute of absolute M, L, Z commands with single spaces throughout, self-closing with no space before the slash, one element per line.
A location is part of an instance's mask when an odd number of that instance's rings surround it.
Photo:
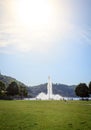
<path fill-rule="evenodd" d="M 68 86 L 64 84 L 53 84 L 53 93 L 63 97 L 76 97 L 75 85 Z M 47 83 L 38 86 L 28 87 L 28 92 L 32 97 L 36 97 L 40 92 L 47 93 Z"/>

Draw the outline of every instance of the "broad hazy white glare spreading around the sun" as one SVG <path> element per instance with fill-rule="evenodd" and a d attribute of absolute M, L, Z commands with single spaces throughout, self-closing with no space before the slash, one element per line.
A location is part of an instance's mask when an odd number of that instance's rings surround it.
<path fill-rule="evenodd" d="M 7 0 L 7 3 L 12 33 L 21 50 L 48 50 L 55 39 L 65 36 L 70 28 L 66 19 L 69 11 L 63 1 Z"/>

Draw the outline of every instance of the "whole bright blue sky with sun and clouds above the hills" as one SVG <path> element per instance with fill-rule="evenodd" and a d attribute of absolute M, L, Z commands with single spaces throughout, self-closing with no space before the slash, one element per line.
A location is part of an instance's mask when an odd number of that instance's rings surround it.
<path fill-rule="evenodd" d="M 91 0 L 0 0 L 0 72 L 25 83 L 91 81 Z"/>

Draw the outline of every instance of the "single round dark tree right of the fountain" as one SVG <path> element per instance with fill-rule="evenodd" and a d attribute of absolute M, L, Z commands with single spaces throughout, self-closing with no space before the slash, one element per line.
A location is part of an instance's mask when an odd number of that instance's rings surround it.
<path fill-rule="evenodd" d="M 77 85 L 75 89 L 75 93 L 79 97 L 89 97 L 89 91 L 88 87 L 85 83 L 80 83 Z"/>

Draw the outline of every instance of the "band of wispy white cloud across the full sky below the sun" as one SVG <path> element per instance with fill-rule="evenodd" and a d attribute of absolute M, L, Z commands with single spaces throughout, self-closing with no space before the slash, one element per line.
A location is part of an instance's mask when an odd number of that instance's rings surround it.
<path fill-rule="evenodd" d="M 48 53 L 55 49 L 53 47 L 57 46 L 58 39 L 61 45 L 63 44 L 61 43 L 62 39 L 68 39 L 66 44 L 69 44 L 70 39 L 75 41 L 85 40 L 86 43 L 90 44 L 90 32 L 66 22 L 60 25 L 59 29 L 50 31 L 37 29 L 30 31 L 20 26 L 4 26 L 0 31 L 0 52 L 13 53 L 18 51 L 27 53 L 34 51 Z"/>

